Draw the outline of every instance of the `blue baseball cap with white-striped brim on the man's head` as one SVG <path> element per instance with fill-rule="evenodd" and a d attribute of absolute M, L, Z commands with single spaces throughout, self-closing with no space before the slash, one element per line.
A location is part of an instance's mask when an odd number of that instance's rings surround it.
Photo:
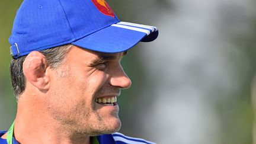
<path fill-rule="evenodd" d="M 24 0 L 9 37 L 15 59 L 63 44 L 104 53 L 153 41 L 158 28 L 120 21 L 104 0 Z"/>

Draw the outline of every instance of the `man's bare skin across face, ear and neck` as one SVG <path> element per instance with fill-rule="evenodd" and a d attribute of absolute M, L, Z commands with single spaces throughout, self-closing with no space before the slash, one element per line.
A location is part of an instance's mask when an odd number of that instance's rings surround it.
<path fill-rule="evenodd" d="M 26 88 L 14 125 L 20 143 L 90 143 L 90 136 L 117 132 L 118 105 L 95 98 L 115 97 L 132 84 L 120 65 L 125 53 L 98 53 L 72 46 L 62 64 L 50 68 L 39 52 L 23 63 Z M 2 136 L 6 138 L 6 135 Z"/>

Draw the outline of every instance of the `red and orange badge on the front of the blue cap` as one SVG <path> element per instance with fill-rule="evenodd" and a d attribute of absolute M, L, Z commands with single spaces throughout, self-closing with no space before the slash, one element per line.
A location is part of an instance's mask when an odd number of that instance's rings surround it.
<path fill-rule="evenodd" d="M 110 8 L 105 0 L 91 0 L 98 10 L 104 15 L 114 17 L 114 11 Z"/>

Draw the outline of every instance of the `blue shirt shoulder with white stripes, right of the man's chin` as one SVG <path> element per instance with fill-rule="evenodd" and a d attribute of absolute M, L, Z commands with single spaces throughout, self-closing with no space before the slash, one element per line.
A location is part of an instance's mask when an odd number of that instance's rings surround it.
<path fill-rule="evenodd" d="M 113 139 L 116 141 L 117 144 L 156 144 L 153 142 L 149 142 L 148 140 L 145 139 L 139 139 L 139 138 L 135 138 L 135 137 L 129 137 L 129 136 L 125 136 L 121 133 L 113 133 L 112 134 Z"/>

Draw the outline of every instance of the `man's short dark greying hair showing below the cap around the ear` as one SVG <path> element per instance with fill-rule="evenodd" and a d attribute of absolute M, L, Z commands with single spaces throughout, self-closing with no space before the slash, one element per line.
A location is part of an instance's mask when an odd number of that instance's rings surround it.
<path fill-rule="evenodd" d="M 60 65 L 63 58 L 68 53 L 72 44 L 65 44 L 63 46 L 53 47 L 40 51 L 46 57 L 47 63 L 51 68 L 57 68 Z M 18 59 L 12 58 L 11 65 L 9 67 L 11 73 L 11 83 L 14 89 L 14 95 L 18 100 L 19 95 L 25 90 L 26 79 L 23 73 L 23 62 L 27 56 L 19 57 Z"/>

